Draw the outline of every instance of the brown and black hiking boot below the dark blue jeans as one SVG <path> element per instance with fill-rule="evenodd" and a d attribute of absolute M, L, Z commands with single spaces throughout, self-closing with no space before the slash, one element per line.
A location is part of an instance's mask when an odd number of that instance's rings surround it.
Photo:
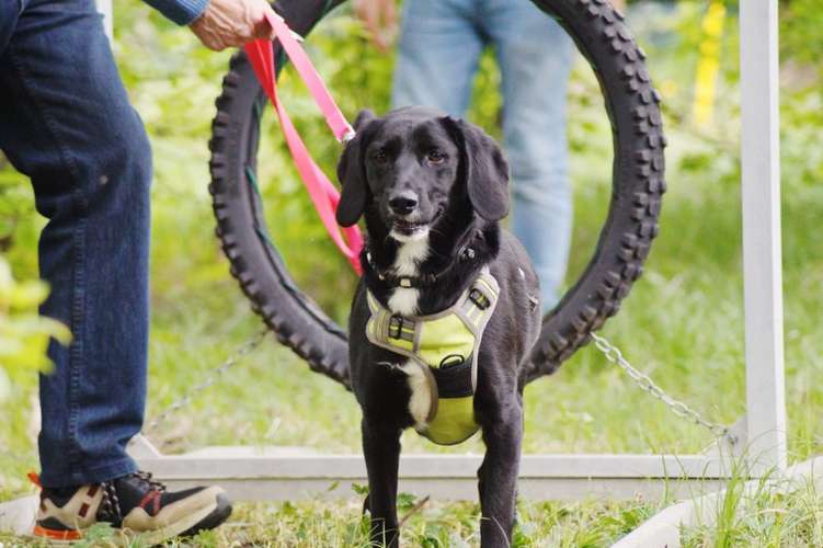
<path fill-rule="evenodd" d="M 96 523 L 110 523 L 126 537 L 139 535 L 149 545 L 175 536 L 213 529 L 229 517 L 231 504 L 216 486 L 169 492 L 147 472 L 80 488 L 41 492 L 34 535 L 70 544 Z"/>

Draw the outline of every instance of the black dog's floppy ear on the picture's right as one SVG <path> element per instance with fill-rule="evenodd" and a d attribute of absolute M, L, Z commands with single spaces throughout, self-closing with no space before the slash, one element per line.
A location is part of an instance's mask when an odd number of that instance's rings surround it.
<path fill-rule="evenodd" d="M 459 175 L 480 217 L 498 221 L 508 214 L 508 163 L 485 132 L 450 116 L 443 122 L 460 150 Z"/>

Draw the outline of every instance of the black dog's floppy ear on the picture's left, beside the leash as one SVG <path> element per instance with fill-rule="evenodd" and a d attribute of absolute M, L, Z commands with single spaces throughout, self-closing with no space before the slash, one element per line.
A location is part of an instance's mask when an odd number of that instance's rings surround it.
<path fill-rule="evenodd" d="M 357 135 L 346 144 L 343 155 L 338 163 L 338 180 L 343 191 L 338 204 L 336 218 L 342 227 L 351 227 L 363 215 L 366 208 L 368 183 L 366 170 L 363 164 L 363 155 L 366 149 L 368 135 L 367 126 L 375 121 L 375 114 L 369 110 L 361 111 L 354 121 L 354 129 Z"/>

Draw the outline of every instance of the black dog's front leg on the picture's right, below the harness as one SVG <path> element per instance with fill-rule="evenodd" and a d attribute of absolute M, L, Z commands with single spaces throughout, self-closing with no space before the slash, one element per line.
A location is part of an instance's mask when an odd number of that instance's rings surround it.
<path fill-rule="evenodd" d="M 480 546 L 512 545 L 517 471 L 523 438 L 523 408 L 519 401 L 502 410 L 498 420 L 483 426 L 485 457 L 478 470 L 480 479 Z"/>

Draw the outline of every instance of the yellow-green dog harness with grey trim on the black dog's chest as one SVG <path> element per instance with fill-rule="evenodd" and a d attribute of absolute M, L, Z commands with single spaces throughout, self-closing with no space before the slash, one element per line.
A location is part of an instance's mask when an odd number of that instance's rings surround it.
<path fill-rule="evenodd" d="M 423 370 L 432 406 L 426 423 L 415 427 L 436 444 L 458 444 L 480 427 L 473 404 L 478 353 L 499 295 L 498 281 L 488 269 L 457 302 L 434 315 L 392 313 L 367 292 L 372 317 L 366 336 L 372 344 L 410 357 Z"/>

